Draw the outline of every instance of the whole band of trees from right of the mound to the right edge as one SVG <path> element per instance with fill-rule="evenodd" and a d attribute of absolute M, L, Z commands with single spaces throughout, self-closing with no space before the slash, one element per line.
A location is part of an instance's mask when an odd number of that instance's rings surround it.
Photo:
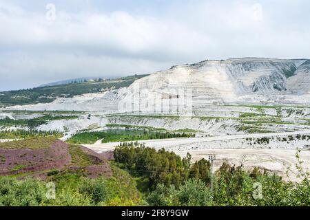
<path fill-rule="evenodd" d="M 310 206 L 309 173 L 297 165 L 300 183 L 283 181 L 259 168 L 223 163 L 214 175 L 205 159 L 191 164 L 191 155 L 181 159 L 164 149 L 121 144 L 115 161 L 148 178 L 151 206 Z M 302 164 L 298 154 L 296 164 Z M 214 191 L 209 186 L 214 181 Z"/>

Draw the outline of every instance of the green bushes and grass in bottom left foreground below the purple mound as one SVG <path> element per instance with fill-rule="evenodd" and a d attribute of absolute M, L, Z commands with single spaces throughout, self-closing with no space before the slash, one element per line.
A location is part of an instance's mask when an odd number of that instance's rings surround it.
<path fill-rule="evenodd" d="M 120 172 L 122 175 L 123 171 Z M 75 185 L 70 184 L 73 179 L 76 180 Z M 69 177 L 62 187 L 57 187 L 61 186 L 59 179 L 50 180 L 56 180 L 55 199 L 46 197 L 48 188 L 45 181 L 0 177 L 0 206 L 137 206 L 141 204 L 140 193 L 135 185 L 129 185 L 133 184 L 129 175 L 97 179 L 76 175 Z"/>

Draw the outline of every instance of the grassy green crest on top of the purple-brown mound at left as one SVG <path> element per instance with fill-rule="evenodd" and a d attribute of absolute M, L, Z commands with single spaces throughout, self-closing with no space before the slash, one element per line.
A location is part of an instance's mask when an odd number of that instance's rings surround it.
<path fill-rule="evenodd" d="M 6 149 L 42 149 L 49 148 L 57 141 L 55 137 L 32 137 L 25 140 L 0 143 L 0 148 Z"/>

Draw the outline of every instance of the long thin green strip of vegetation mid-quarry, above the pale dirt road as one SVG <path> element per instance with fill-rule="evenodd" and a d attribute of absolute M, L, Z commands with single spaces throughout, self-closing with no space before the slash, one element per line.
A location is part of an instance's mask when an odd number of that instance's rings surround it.
<path fill-rule="evenodd" d="M 169 133 L 155 132 L 140 129 L 118 130 L 110 129 L 101 132 L 82 132 L 71 137 L 67 142 L 71 144 L 94 144 L 103 139 L 103 143 L 108 142 L 130 142 L 134 140 L 154 140 L 173 137 L 194 137 L 192 133 Z"/>

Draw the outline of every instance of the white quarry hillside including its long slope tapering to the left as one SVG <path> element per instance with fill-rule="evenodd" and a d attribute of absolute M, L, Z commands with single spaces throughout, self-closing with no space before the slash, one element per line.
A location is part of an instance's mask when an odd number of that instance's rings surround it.
<path fill-rule="evenodd" d="M 310 104 L 310 60 L 232 58 L 177 65 L 130 87 L 10 109 L 158 113 L 223 104 Z"/>

